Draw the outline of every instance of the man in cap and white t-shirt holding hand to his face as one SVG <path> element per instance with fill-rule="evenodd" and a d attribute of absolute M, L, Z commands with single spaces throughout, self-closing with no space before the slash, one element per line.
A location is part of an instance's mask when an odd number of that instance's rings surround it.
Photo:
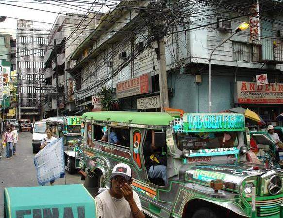
<path fill-rule="evenodd" d="M 96 196 L 97 217 L 145 218 L 140 199 L 131 188 L 132 171 L 129 165 L 119 163 L 111 173 L 111 186 Z"/>

